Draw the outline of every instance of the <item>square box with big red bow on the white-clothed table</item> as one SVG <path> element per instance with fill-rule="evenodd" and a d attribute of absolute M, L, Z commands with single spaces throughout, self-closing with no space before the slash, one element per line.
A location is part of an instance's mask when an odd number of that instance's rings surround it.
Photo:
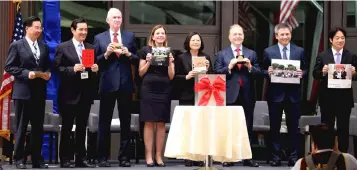
<path fill-rule="evenodd" d="M 226 105 L 225 74 L 198 74 L 194 86 L 195 106 Z"/>

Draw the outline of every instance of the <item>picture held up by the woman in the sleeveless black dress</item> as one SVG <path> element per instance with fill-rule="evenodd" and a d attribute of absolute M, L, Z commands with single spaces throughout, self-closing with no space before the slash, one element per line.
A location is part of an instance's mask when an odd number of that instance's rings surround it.
<path fill-rule="evenodd" d="M 170 47 L 152 47 L 151 65 L 169 66 Z"/>

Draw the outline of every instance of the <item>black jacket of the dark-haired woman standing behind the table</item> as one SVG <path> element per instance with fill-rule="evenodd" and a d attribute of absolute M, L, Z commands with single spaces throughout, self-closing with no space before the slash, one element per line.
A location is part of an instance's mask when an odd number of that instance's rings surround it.
<path fill-rule="evenodd" d="M 210 62 L 207 73 L 213 73 L 211 58 L 209 55 L 200 52 L 198 56 L 205 56 Z M 180 91 L 179 100 L 193 101 L 195 97 L 194 83 L 195 78 L 186 80 L 186 75 L 192 70 L 192 56 L 189 51 L 180 54 L 175 59 L 175 83 L 179 84 L 177 90 Z"/>

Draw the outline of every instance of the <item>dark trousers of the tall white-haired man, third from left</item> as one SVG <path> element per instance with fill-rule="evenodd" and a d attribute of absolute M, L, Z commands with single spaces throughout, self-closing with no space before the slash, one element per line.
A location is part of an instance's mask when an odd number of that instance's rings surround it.
<path fill-rule="evenodd" d="M 130 160 L 130 123 L 132 94 L 127 92 L 111 92 L 101 96 L 99 108 L 99 126 L 97 152 L 98 160 L 107 160 L 110 153 L 110 125 L 113 118 L 115 102 L 118 102 L 120 120 L 119 160 Z"/>

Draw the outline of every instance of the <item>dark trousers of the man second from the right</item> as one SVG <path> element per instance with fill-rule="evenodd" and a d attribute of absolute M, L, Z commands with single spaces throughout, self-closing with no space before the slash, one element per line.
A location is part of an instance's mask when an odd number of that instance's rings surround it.
<path fill-rule="evenodd" d="M 283 111 L 286 115 L 286 125 L 288 128 L 290 157 L 289 160 L 297 160 L 297 148 L 299 146 L 299 119 L 300 102 L 291 102 L 286 96 L 282 102 L 269 102 L 270 137 L 272 143 L 272 159 L 281 161 L 280 150 L 280 127 Z"/>

